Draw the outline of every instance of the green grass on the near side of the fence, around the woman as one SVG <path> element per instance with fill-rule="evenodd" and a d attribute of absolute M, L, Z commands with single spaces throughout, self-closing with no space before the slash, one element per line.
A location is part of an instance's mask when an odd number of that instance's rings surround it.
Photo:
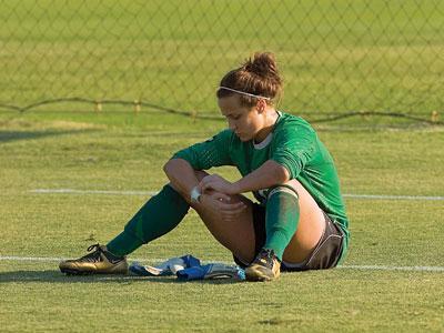
<path fill-rule="evenodd" d="M 343 268 L 283 274 L 273 283 L 59 273 L 54 258 L 79 256 L 91 243 L 107 242 L 148 196 L 31 190 L 155 191 L 174 151 L 223 125 L 149 112 L 1 112 L 0 331 L 444 331 L 443 269 L 394 270 L 444 266 L 442 200 L 347 198 L 352 240 Z M 443 128 L 317 130 L 344 193 L 444 195 Z M 231 260 L 193 212 L 132 258 L 150 262 L 186 253 Z"/>

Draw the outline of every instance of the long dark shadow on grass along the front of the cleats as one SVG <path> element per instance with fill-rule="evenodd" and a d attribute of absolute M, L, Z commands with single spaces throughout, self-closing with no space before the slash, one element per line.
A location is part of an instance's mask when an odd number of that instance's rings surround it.
<path fill-rule="evenodd" d="M 10 271 L 0 272 L 0 285 L 3 283 L 203 283 L 203 284 L 232 284 L 239 283 L 234 279 L 214 279 L 182 281 L 175 276 L 132 276 L 132 275 L 64 275 L 57 270 L 46 271 Z"/>

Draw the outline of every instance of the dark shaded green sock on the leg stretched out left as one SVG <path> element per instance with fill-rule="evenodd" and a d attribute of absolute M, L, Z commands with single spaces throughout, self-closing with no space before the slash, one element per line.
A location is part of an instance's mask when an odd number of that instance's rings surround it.
<path fill-rule="evenodd" d="M 128 222 L 122 233 L 107 244 L 118 256 L 127 255 L 173 230 L 186 215 L 190 205 L 173 188 L 165 185 Z"/>

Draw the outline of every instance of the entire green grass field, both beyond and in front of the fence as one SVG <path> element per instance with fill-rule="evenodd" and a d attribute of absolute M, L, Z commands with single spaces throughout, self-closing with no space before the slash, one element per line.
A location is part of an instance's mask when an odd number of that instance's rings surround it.
<path fill-rule="evenodd" d="M 132 105 L 8 109 L 80 97 L 218 114 L 221 75 L 270 50 L 284 111 L 435 110 L 442 120 L 443 13 L 435 0 L 0 0 L 0 332 L 444 332 L 444 127 L 316 124 L 347 194 L 341 268 L 181 283 L 64 276 L 58 261 L 119 233 L 149 198 L 123 193 L 158 191 L 171 154 L 224 123 Z M 192 211 L 130 260 L 186 253 L 231 261 Z"/>

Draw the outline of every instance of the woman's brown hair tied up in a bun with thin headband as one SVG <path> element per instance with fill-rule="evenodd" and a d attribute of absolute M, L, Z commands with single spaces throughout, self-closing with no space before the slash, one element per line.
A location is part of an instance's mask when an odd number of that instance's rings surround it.
<path fill-rule="evenodd" d="M 266 102 L 280 95 L 282 91 L 282 79 L 279 75 L 274 54 L 270 52 L 254 53 L 253 59 L 249 58 L 238 69 L 228 72 L 221 80 L 221 87 L 226 87 L 246 93 L 270 98 Z M 218 98 L 230 97 L 236 92 L 218 89 Z M 239 94 L 242 107 L 254 107 L 258 98 Z"/>

